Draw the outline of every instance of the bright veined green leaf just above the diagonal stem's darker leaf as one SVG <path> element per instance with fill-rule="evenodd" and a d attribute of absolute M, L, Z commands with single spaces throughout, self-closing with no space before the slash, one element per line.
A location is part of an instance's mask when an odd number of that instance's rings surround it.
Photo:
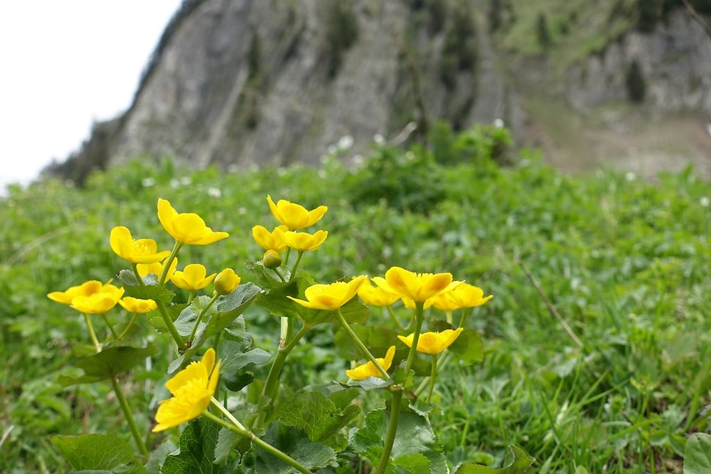
<path fill-rule="evenodd" d="M 358 414 L 358 406 L 338 409 L 321 392 L 306 392 L 280 406 L 275 416 L 285 425 L 306 431 L 311 441 L 329 444 L 328 441 Z"/>

